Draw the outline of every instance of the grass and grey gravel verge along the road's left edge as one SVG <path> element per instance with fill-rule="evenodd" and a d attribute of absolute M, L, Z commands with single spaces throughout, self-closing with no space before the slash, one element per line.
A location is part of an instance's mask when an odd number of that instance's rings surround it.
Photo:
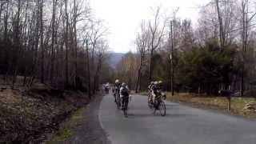
<path fill-rule="evenodd" d="M 102 129 L 98 120 L 98 110 L 103 95 L 95 95 L 94 99 L 87 106 L 83 106 L 72 114 L 46 143 L 110 144 L 107 134 Z"/>

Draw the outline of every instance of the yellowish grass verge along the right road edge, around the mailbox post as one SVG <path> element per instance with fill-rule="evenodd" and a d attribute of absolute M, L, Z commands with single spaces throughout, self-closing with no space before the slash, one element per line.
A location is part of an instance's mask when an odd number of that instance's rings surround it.
<path fill-rule="evenodd" d="M 140 93 L 142 95 L 147 95 L 146 91 Z M 228 114 L 240 115 L 245 118 L 256 118 L 256 112 L 250 112 L 243 110 L 247 103 L 256 102 L 256 98 L 231 98 L 231 110 L 227 111 L 227 98 L 219 96 L 206 96 L 198 94 L 174 94 L 171 96 L 171 93 L 166 93 L 166 98 L 171 102 L 181 102 L 183 104 L 188 104 L 190 106 L 195 106 L 203 109 L 218 110 Z"/>

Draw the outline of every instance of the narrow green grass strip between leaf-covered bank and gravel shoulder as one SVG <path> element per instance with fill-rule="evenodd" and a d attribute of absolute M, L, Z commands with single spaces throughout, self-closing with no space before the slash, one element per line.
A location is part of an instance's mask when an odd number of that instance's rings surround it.
<path fill-rule="evenodd" d="M 62 143 L 74 136 L 74 129 L 84 121 L 85 110 L 86 107 L 82 107 L 75 111 L 46 144 Z"/>

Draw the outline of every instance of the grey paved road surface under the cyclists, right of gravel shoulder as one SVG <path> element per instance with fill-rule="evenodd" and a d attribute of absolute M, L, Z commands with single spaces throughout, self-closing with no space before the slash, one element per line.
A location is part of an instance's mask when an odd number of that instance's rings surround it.
<path fill-rule="evenodd" d="M 146 97 L 134 95 L 128 118 L 102 99 L 99 120 L 113 144 L 256 144 L 256 122 L 166 102 L 166 117 L 152 114 Z"/>

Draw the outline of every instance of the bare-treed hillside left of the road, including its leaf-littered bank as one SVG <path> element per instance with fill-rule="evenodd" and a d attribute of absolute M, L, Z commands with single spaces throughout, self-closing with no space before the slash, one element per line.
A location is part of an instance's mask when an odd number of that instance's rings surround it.
<path fill-rule="evenodd" d="M 88 1 L 0 1 L 0 142 L 42 142 L 94 97 L 112 73 L 107 34 Z"/>

